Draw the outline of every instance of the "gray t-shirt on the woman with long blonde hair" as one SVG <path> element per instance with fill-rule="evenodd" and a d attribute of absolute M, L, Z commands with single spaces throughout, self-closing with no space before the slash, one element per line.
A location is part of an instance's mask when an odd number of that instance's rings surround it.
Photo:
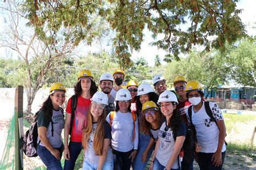
<path fill-rule="evenodd" d="M 99 162 L 99 156 L 95 155 L 95 151 L 93 149 L 93 137 L 94 137 L 94 133 L 97 127 L 97 123 L 93 123 L 92 124 L 92 132 L 90 134 L 90 137 L 88 139 L 88 145 L 85 149 L 85 153 L 84 153 L 84 161 L 89 162 L 90 164 L 98 164 Z M 105 121 L 105 126 L 104 126 L 104 139 L 112 139 L 111 136 L 111 128 L 109 123 L 107 123 Z M 113 154 L 112 154 L 112 150 L 109 146 L 109 150 L 107 150 L 107 155 L 106 155 L 106 160 L 105 162 L 111 162 L 113 160 Z"/>

